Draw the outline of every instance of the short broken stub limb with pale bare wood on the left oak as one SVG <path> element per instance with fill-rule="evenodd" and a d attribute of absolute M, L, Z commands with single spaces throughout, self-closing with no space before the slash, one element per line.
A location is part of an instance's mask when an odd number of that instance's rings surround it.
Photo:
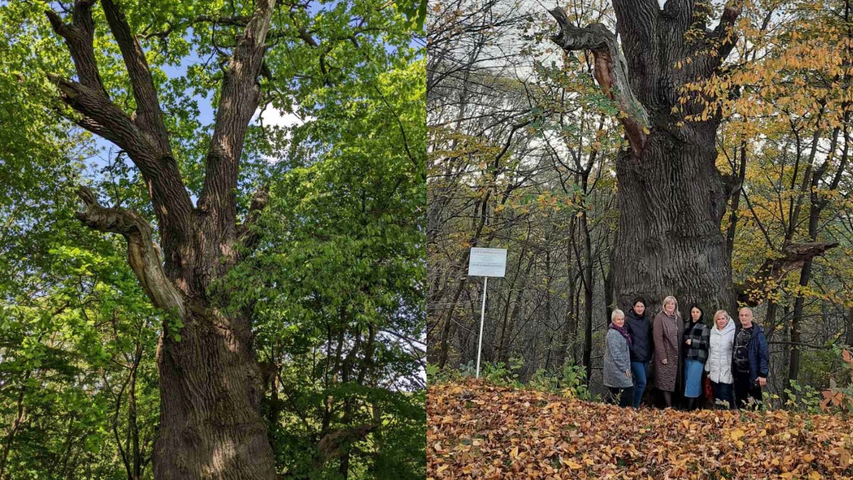
<path fill-rule="evenodd" d="M 183 318 L 183 296 L 165 276 L 160 248 L 151 240 L 154 232 L 151 225 L 132 210 L 102 207 L 88 187 L 80 187 L 77 195 L 86 206 L 78 212 L 78 220 L 94 230 L 119 233 L 125 237 L 131 268 L 154 306 Z"/>

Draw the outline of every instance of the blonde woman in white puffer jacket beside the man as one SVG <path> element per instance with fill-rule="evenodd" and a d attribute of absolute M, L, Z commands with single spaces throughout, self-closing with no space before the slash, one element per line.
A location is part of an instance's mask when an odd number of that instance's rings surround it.
<path fill-rule="evenodd" d="M 725 310 L 714 313 L 714 326 L 711 328 L 711 342 L 708 348 L 708 361 L 705 372 L 711 379 L 714 390 L 714 402 L 727 402 L 727 408 L 734 408 L 732 395 L 732 346 L 734 345 L 734 321 Z M 724 404 L 725 405 L 725 404 Z"/>

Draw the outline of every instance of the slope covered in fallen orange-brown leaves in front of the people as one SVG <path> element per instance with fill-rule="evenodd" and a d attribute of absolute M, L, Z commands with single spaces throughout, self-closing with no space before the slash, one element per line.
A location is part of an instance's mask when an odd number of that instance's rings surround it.
<path fill-rule="evenodd" d="M 487 383 L 433 386 L 427 478 L 853 478 L 853 420 L 621 409 Z"/>

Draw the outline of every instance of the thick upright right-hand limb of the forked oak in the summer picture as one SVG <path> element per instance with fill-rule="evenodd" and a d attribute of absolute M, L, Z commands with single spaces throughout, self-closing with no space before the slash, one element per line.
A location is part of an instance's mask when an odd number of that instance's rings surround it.
<path fill-rule="evenodd" d="M 237 41 L 226 68 L 199 208 L 213 215 L 219 231 L 235 231 L 234 190 L 249 120 L 258 108 L 258 73 L 264 59 L 266 34 L 276 0 L 262 0 Z"/>

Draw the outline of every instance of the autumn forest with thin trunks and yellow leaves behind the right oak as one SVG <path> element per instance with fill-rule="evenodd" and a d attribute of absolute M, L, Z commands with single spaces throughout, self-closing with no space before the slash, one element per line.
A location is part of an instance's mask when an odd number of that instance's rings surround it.
<path fill-rule="evenodd" d="M 699 24 L 723 18 L 722 3 L 695 4 Z M 740 5 L 728 59 L 682 91 L 708 99 L 705 108 L 683 118 L 722 118 L 717 169 L 734 187 L 720 228 L 732 281 L 751 285 L 744 293 L 768 337 L 772 404 L 817 407 L 821 390 L 850 383 L 841 349 L 853 344 L 853 6 Z M 612 288 L 615 161 L 628 142 L 593 56 L 550 39 L 554 6 L 458 0 L 429 11 L 427 358 L 433 374 L 473 374 L 483 278 L 467 277 L 469 249 L 508 249 L 506 277 L 488 284 L 485 374 L 559 388 L 587 378 L 601 392 L 610 312 L 630 302 Z M 559 6 L 572 26 L 615 32 L 609 0 Z M 829 247 L 757 275 L 794 243 Z M 702 307 L 709 323 L 726 308 Z"/>

